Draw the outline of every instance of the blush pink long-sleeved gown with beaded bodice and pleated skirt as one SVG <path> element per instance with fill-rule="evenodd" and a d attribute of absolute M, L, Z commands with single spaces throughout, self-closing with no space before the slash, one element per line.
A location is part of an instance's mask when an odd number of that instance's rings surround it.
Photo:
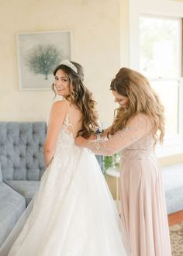
<path fill-rule="evenodd" d="M 120 152 L 121 217 L 132 256 L 171 256 L 161 168 L 154 155 L 153 123 L 138 114 L 109 140 L 89 141 L 95 154 Z"/>

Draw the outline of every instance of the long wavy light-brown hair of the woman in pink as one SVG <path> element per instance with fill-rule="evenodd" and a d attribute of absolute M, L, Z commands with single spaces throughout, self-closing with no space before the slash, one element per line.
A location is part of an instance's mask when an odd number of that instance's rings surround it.
<path fill-rule="evenodd" d="M 112 123 L 110 134 L 113 135 L 118 130 L 122 130 L 129 119 L 138 113 L 143 113 L 150 117 L 154 123 L 152 135 L 154 144 L 164 138 L 164 106 L 150 83 L 137 71 L 123 67 L 116 74 L 111 82 L 110 89 L 129 98 L 127 108 L 119 107 L 115 110 L 115 119 Z"/>

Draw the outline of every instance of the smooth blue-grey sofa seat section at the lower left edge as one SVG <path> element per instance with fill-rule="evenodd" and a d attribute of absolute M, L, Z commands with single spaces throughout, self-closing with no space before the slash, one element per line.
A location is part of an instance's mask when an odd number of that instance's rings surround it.
<path fill-rule="evenodd" d="M 25 209 L 22 195 L 0 182 L 0 247 Z"/>

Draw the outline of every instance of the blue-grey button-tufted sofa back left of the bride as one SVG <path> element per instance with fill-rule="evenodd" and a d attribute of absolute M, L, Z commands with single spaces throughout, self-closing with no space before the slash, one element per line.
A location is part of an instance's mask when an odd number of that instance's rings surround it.
<path fill-rule="evenodd" d="M 0 163 L 3 180 L 40 180 L 45 165 L 44 122 L 0 122 Z"/>

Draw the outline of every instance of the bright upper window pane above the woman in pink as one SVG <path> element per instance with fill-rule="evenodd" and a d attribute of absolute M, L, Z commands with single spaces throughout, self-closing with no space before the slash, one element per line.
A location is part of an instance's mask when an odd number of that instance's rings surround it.
<path fill-rule="evenodd" d="M 181 76 L 181 19 L 140 16 L 140 70 L 149 78 Z"/>

